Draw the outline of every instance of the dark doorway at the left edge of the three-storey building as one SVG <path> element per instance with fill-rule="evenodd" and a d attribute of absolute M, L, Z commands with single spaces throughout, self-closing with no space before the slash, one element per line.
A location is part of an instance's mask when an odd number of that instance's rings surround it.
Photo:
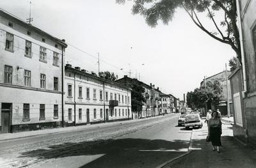
<path fill-rule="evenodd" d="M 12 121 L 12 103 L 2 103 L 1 110 L 1 133 L 11 132 L 11 121 Z"/>

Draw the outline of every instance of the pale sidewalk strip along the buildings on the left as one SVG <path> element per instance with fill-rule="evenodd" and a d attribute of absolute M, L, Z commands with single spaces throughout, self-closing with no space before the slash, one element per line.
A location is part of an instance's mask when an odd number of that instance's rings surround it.
<path fill-rule="evenodd" d="M 175 114 L 168 114 L 168 115 L 175 115 Z M 164 116 L 156 116 L 156 118 L 162 118 Z M 64 128 L 50 128 L 45 130 L 35 130 L 35 131 L 28 131 L 28 132 L 17 132 L 17 133 L 7 133 L 7 134 L 0 134 L 0 141 L 7 141 L 11 139 L 20 139 L 24 137 L 35 137 L 45 134 L 59 134 L 63 132 L 76 132 L 76 131 L 82 131 L 89 128 L 99 128 L 102 126 L 112 126 L 112 125 L 120 125 L 125 123 L 134 123 L 134 122 L 140 122 L 145 121 L 148 119 L 154 119 L 152 118 L 143 118 L 143 119 L 131 119 L 126 121 L 116 121 L 116 122 L 109 122 L 109 123 L 99 123 L 99 124 L 93 124 L 93 125 L 81 125 L 81 126 L 68 126 Z"/>

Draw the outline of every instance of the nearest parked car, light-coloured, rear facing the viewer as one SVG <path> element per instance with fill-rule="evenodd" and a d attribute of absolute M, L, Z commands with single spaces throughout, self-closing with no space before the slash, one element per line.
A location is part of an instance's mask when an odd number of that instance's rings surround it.
<path fill-rule="evenodd" d="M 188 129 L 189 127 L 195 127 L 198 126 L 199 128 L 202 128 L 203 122 L 199 116 L 199 114 L 187 114 L 185 118 L 185 127 Z"/>

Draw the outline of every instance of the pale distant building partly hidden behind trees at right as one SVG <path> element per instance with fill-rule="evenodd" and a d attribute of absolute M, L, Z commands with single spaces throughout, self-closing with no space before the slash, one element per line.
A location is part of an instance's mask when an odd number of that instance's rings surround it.
<path fill-rule="evenodd" d="M 231 72 L 227 71 L 227 76 L 230 74 Z M 220 82 L 220 86 L 222 87 L 223 100 L 220 102 L 218 109 L 220 109 L 221 114 L 227 115 L 227 87 L 228 87 L 229 105 L 231 107 L 230 113 L 233 113 L 230 81 L 228 80 L 227 82 L 226 80 L 226 71 L 223 71 L 215 75 L 212 75 L 211 77 L 205 78 L 205 81 L 203 80 L 201 82 L 201 86 L 204 86 L 205 82 L 207 83 L 208 81 L 211 81 L 213 84 L 214 80 L 218 80 L 218 82 Z M 207 103 L 207 109 L 214 109 L 214 105 Z"/>

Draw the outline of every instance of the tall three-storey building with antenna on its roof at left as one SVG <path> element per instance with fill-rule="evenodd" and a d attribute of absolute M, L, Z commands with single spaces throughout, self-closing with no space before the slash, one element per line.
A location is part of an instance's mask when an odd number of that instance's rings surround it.
<path fill-rule="evenodd" d="M 20 132 L 61 125 L 67 44 L 0 10 L 0 127 Z"/>

